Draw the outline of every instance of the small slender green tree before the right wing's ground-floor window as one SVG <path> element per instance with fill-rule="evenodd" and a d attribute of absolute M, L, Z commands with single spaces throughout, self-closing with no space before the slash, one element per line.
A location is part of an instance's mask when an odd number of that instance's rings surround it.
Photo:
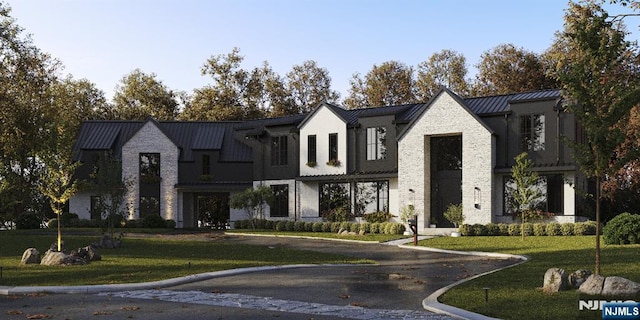
<path fill-rule="evenodd" d="M 513 185 L 507 186 L 510 204 L 520 216 L 520 233 L 523 239 L 525 223 L 536 216 L 536 206 L 544 196 L 542 188 L 539 186 L 540 177 L 531 170 L 533 163 L 527 156 L 526 152 L 516 156 L 516 163 L 511 167 Z"/>

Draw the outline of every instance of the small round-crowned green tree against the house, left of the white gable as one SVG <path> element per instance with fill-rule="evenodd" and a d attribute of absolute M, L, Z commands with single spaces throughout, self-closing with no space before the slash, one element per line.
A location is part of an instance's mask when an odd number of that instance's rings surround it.
<path fill-rule="evenodd" d="M 273 203 L 273 199 L 271 187 L 260 185 L 232 195 L 229 199 L 229 206 L 244 210 L 247 218 L 251 221 L 251 227 L 255 229 L 254 220 L 264 219 L 265 205 Z"/>

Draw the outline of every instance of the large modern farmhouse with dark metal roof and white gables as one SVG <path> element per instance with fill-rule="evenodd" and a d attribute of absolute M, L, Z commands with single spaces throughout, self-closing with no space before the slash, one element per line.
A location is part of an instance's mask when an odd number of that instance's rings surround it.
<path fill-rule="evenodd" d="M 442 89 L 425 103 L 321 103 L 308 114 L 243 122 L 89 121 L 75 148 L 85 164 L 101 151 L 122 161 L 135 185 L 124 204 L 131 219 L 160 214 L 184 228 L 212 210 L 244 219 L 229 196 L 267 185 L 276 195 L 269 219 L 398 215 L 411 204 L 423 228 L 450 227 L 442 214 L 459 203 L 465 223 L 512 222 L 505 190 L 523 151 L 542 177 L 540 208 L 559 222 L 581 220 L 576 189 L 586 181 L 564 137 L 579 137 L 579 127 L 558 90 L 463 99 Z M 90 218 L 91 199 L 91 191 L 76 195 L 71 212 Z"/>

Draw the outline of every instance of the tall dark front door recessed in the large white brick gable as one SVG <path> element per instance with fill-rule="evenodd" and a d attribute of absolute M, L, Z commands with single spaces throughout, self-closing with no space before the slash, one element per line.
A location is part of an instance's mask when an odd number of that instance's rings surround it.
<path fill-rule="evenodd" d="M 451 204 L 462 203 L 462 136 L 432 137 L 431 223 L 452 228 L 443 213 Z"/>

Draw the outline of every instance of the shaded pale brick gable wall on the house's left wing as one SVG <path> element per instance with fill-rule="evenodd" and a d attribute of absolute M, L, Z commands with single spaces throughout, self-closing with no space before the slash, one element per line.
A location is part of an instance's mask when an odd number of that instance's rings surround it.
<path fill-rule="evenodd" d="M 149 121 L 122 147 L 122 177 L 134 181 L 126 196 L 127 219 L 140 217 L 140 153 L 160 153 L 160 216 L 178 222 L 178 157 L 180 150 L 164 133 Z"/>

